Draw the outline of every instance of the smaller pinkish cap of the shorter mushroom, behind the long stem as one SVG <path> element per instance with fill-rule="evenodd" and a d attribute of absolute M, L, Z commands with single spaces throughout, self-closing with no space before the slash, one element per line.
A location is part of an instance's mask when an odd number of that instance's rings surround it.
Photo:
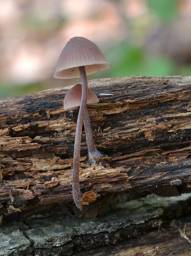
<path fill-rule="evenodd" d="M 78 107 L 81 104 L 82 85 L 77 84 L 73 86 L 64 97 L 64 110 Z M 89 88 L 87 89 L 87 104 L 99 102 L 99 99 Z"/>

